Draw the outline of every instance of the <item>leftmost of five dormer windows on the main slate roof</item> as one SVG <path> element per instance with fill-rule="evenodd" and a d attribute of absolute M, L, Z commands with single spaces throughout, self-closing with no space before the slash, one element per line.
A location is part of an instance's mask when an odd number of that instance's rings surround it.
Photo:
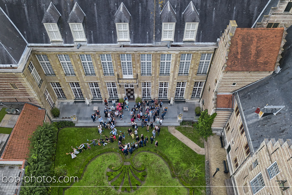
<path fill-rule="evenodd" d="M 59 18 L 61 14 L 51 2 L 47 11 L 45 12 L 44 18 L 41 23 L 44 24 L 50 41 L 63 41 L 62 35 L 60 32 Z"/>

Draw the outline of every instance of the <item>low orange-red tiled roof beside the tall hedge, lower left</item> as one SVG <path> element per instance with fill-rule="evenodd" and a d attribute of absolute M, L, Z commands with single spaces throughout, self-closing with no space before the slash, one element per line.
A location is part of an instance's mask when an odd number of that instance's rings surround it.
<path fill-rule="evenodd" d="M 43 125 L 46 110 L 29 103 L 25 103 L 18 120 L 8 139 L 7 145 L 1 158 L 3 159 L 25 159 L 29 153 L 28 138 L 36 130 L 36 127 Z"/>

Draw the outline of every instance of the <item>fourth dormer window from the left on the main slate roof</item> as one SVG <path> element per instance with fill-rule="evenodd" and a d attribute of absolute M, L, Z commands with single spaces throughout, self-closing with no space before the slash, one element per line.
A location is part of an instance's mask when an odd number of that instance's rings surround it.
<path fill-rule="evenodd" d="M 176 23 L 176 16 L 173 7 L 167 1 L 164 8 L 160 12 L 162 22 L 162 33 L 161 41 L 173 41 L 174 40 L 174 29 Z"/>

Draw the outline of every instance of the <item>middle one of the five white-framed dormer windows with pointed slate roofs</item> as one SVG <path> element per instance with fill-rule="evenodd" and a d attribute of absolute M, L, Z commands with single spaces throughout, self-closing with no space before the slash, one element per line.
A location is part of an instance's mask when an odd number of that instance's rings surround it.
<path fill-rule="evenodd" d="M 131 14 L 122 2 L 117 12 L 114 14 L 114 23 L 116 23 L 118 41 L 130 41 L 130 16 Z"/>

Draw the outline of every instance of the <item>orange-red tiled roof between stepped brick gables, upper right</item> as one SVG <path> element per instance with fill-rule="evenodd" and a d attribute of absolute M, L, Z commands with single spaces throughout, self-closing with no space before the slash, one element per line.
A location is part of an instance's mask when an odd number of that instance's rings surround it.
<path fill-rule="evenodd" d="M 237 28 L 225 71 L 274 71 L 284 28 Z"/>

